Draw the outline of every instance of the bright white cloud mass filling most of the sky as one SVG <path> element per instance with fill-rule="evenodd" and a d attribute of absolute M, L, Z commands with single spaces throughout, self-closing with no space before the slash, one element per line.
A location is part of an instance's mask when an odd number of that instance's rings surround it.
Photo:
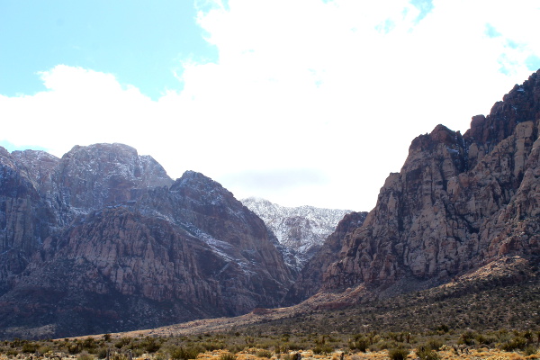
<path fill-rule="evenodd" d="M 4 139 L 56 155 L 125 142 L 173 176 L 201 171 L 238 197 L 369 210 L 414 137 L 438 123 L 466 130 L 540 56 L 533 1 L 435 0 L 420 21 L 404 0 L 212 4 L 198 21 L 219 61 L 186 60 L 181 93 L 155 102 L 112 75 L 54 67 L 41 74 L 46 92 L 0 97 L 12 120 Z M 264 182 L 255 193 L 237 181 L 294 168 L 324 171 L 325 181 L 274 197 Z"/>

